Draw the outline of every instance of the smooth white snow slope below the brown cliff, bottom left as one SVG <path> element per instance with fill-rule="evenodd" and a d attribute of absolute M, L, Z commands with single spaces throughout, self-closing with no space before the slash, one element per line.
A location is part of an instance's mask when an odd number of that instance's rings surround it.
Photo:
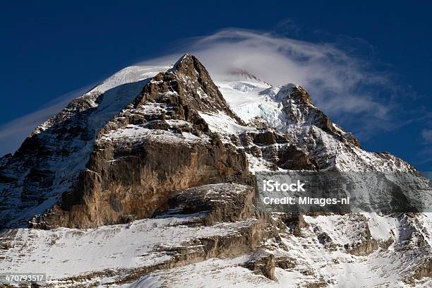
<path fill-rule="evenodd" d="M 56 280 L 107 269 L 150 267 L 174 258 L 170 249 L 193 248 L 189 244 L 193 239 L 236 234 L 253 224 L 250 220 L 212 227 L 191 225 L 200 216 L 174 215 L 88 230 L 18 229 L 3 239 L 14 248 L 1 253 L 0 270 L 43 270 Z"/>

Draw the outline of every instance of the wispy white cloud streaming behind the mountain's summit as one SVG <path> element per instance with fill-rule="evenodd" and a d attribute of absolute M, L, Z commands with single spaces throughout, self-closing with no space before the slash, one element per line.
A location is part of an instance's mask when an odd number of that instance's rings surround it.
<path fill-rule="evenodd" d="M 228 71 L 244 68 L 272 85 L 302 85 L 320 109 L 338 124 L 354 129 L 357 136 L 400 125 L 392 119 L 395 104 L 383 96 L 395 86 L 388 75 L 371 71 L 368 61 L 350 56 L 335 44 L 230 28 L 184 40 L 172 51 L 175 53 L 143 63 L 172 64 L 188 52 L 196 55 L 216 80 Z M 1 126 L 0 154 L 15 150 L 35 126 L 64 107 L 71 95 L 80 95 L 68 94 L 59 104 Z"/>

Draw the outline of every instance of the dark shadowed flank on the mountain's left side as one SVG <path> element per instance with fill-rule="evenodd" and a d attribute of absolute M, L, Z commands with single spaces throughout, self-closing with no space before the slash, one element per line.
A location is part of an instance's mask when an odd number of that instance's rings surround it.
<path fill-rule="evenodd" d="M 35 128 L 13 156 L 2 158 L 0 227 L 26 226 L 31 214 L 59 201 L 85 169 L 97 133 L 148 81 L 85 93 Z"/>

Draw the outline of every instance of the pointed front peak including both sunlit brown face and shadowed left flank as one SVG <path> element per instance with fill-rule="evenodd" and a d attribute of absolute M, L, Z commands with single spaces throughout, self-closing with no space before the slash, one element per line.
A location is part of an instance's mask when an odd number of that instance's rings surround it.
<path fill-rule="evenodd" d="M 38 127 L 8 159 L 9 167 L 30 167 L 16 173 L 23 175 L 23 185 L 16 177 L 4 188 L 20 193 L 21 202 L 2 194 L 25 210 L 18 217 L 22 222 L 33 216 L 25 214 L 30 207 L 35 212 L 49 208 L 30 222 L 30 227 L 43 229 L 151 217 L 181 189 L 251 183 L 251 160 L 263 160 L 272 170 L 318 169 L 313 157 L 283 133 L 266 125 L 246 126 L 194 56 L 182 57 L 151 79 L 112 90 L 78 98 Z M 215 129 L 225 122 L 234 131 Z M 53 165 L 47 154 L 61 160 Z M 42 160 L 31 164 L 34 157 Z M 13 175 L 10 168 L 6 172 Z M 3 179 L 9 179 L 7 173 Z M 13 214 L 6 213 L 7 221 Z"/>

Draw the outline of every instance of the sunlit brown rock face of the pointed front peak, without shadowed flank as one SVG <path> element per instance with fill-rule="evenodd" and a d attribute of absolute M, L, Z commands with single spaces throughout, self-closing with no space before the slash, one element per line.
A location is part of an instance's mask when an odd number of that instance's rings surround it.
<path fill-rule="evenodd" d="M 33 227 L 97 227 L 128 215 L 151 217 L 174 191 L 245 182 L 246 155 L 224 145 L 199 112 L 236 118 L 205 68 L 186 55 L 101 129 L 76 185 Z"/>

